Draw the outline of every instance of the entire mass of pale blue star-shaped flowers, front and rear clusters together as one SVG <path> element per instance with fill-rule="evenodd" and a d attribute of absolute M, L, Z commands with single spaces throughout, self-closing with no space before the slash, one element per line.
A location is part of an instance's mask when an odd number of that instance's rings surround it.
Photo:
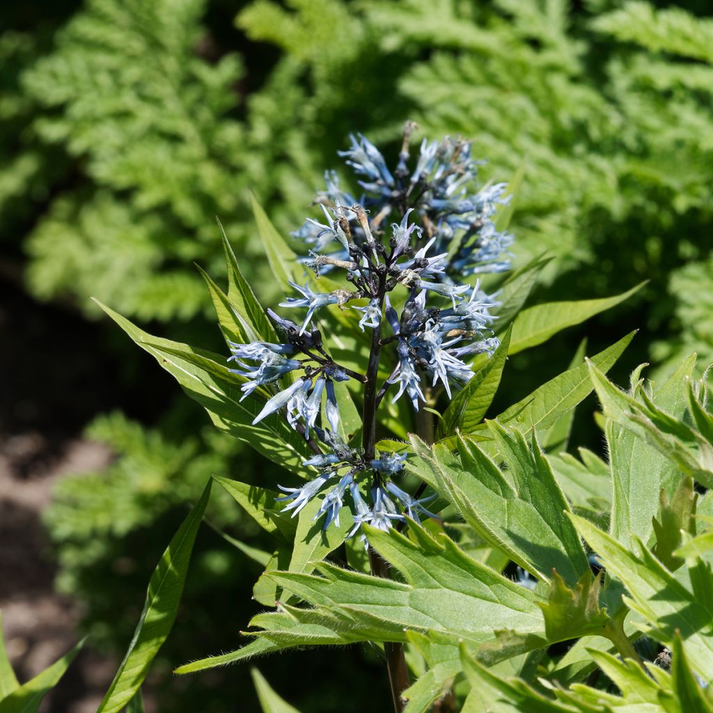
<path fill-rule="evenodd" d="M 364 195 L 354 200 L 340 190 L 336 174 L 327 173 L 327 190 L 317 198 L 324 219 L 309 218 L 293 233 L 309 246 L 303 262 L 315 277 L 308 276 L 304 286 L 291 282 L 299 297 L 287 297 L 280 307 L 305 309 L 301 324 L 267 310 L 281 343 L 230 344 L 230 361 L 237 367 L 232 371 L 245 379 L 243 399 L 256 391 L 267 398 L 253 423 L 284 409 L 289 424 L 315 452 L 304 466 L 317 468 L 317 477 L 301 488 L 281 487 L 285 495 L 279 501 L 296 515 L 312 498 L 323 496 L 315 519 L 324 515 L 327 528 L 339 525 L 348 498 L 354 518 L 350 536 L 362 523 L 388 530 L 406 516 L 434 516 L 424 503 L 435 496 L 411 496 L 394 483 L 406 453 L 377 455 L 373 437 L 365 436 L 361 447 L 342 441 L 334 384 L 349 379 L 364 384 L 364 409 L 373 411 L 373 436 L 376 409 L 389 387 L 395 392 L 392 402 L 406 394 L 418 411 L 439 385 L 451 398 L 452 390 L 473 376 L 473 355 L 491 355 L 498 347 L 489 311 L 496 303 L 481 291 L 479 281 L 460 281 L 510 267 L 507 248 L 512 237 L 498 232 L 493 222 L 496 206 L 507 200 L 506 187 L 471 191 L 477 163 L 471 159 L 470 143 L 460 139 L 424 141 L 409 170 L 412 128 L 406 127 L 393 171 L 366 138 L 352 136 L 352 146 L 340 153 L 361 178 Z M 391 216 L 396 221 L 389 230 L 385 225 Z M 319 292 L 319 275 L 327 270 L 344 271 L 348 287 Z M 401 295 L 389 297 L 397 289 Z M 358 304 L 348 304 L 356 300 Z M 322 332 L 314 323 L 328 305 L 351 307 L 360 313 L 358 328 L 371 330 L 369 373 L 337 364 L 323 348 Z M 381 349 L 394 349 L 396 367 L 376 394 L 374 364 Z M 365 415 L 365 434 L 366 421 Z"/>

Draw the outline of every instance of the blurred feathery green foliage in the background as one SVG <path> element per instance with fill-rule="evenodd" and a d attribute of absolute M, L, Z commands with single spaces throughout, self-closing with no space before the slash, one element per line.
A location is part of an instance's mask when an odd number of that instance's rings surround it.
<path fill-rule="evenodd" d="M 41 19 L 4 9 L 0 36 L 0 245 L 24 255 L 34 297 L 93 319 L 93 295 L 205 344 L 195 333 L 212 329 L 212 315 L 191 263 L 215 277 L 224 270 L 215 215 L 270 302 L 247 191 L 287 234 L 324 169 L 339 165 L 349 131 L 396 153 L 401 125 L 414 118 L 419 138 L 475 138 L 485 178 L 508 180 L 524 166 L 515 255 L 520 264 L 555 255 L 541 301 L 650 279 L 628 309 L 595 323 L 595 348 L 611 341 L 612 319 L 617 333 L 642 327 L 622 372 L 639 361 L 665 370 L 690 349 L 699 364 L 713 360 L 713 21 L 686 10 L 695 4 L 46 5 L 31 4 Z M 219 344 L 217 329 L 210 334 Z M 508 402 L 561 371 L 581 334 L 553 342 L 542 361 L 514 357 L 521 383 Z M 131 388 L 140 389 L 155 368 L 132 363 Z M 111 602 L 125 605 L 128 593 L 140 597 L 143 573 L 119 594 L 111 563 L 126 553 L 158 559 L 170 516 L 210 473 L 260 478 L 271 467 L 204 425 L 198 409 L 172 402 L 151 430 L 120 414 L 88 430 L 116 462 L 64 481 L 46 519 L 61 587 L 86 602 L 88 622 L 111 620 Z M 596 443 L 589 421 L 586 429 L 573 440 Z M 211 517 L 225 523 L 235 513 Z M 155 547 L 146 551 L 149 532 Z M 232 534 L 253 533 L 238 523 Z M 205 545 L 209 560 L 217 543 Z M 209 625 L 190 586 L 186 602 Z M 120 627 L 104 633 L 122 645 Z"/>

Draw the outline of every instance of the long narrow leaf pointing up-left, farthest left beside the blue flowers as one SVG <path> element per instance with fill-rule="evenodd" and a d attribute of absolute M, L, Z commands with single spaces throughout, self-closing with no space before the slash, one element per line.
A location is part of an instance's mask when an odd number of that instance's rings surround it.
<path fill-rule="evenodd" d="M 272 414 L 252 425 L 264 402 L 252 396 L 240 401 L 240 384 L 227 362 L 217 354 L 195 349 L 147 334 L 112 309 L 97 302 L 139 347 L 155 357 L 163 369 L 173 374 L 183 390 L 203 406 L 213 423 L 262 455 L 293 473 L 307 476 L 302 461 L 314 455 L 307 442 L 290 428 L 282 414 Z M 267 398 L 269 394 L 265 394 Z"/>

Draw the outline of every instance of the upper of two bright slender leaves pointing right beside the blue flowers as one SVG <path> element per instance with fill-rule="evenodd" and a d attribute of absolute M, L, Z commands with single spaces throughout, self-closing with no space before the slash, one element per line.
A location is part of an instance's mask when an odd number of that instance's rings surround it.
<path fill-rule="evenodd" d="M 562 329 L 584 322 L 595 314 L 611 309 L 638 292 L 646 283 L 604 299 L 583 299 L 578 302 L 547 302 L 528 307 L 515 317 L 510 354 L 535 347 L 557 334 Z"/>

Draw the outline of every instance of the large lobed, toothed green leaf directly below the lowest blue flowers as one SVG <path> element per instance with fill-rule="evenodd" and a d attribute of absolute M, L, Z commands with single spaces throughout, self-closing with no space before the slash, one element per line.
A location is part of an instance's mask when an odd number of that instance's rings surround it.
<path fill-rule="evenodd" d="M 329 628 L 330 617 L 344 619 L 344 630 L 338 633 L 348 632 L 354 640 L 403 641 L 406 628 L 479 644 L 492 637 L 493 627 L 506 622 L 523 632 L 542 630 L 538 595 L 473 560 L 448 538 L 435 540 L 415 523 L 409 525 L 414 540 L 368 525 L 365 532 L 374 549 L 401 572 L 403 582 L 329 563 L 317 566 L 324 576 L 270 576 L 317 607 L 310 614 L 313 622 L 320 616 Z"/>

